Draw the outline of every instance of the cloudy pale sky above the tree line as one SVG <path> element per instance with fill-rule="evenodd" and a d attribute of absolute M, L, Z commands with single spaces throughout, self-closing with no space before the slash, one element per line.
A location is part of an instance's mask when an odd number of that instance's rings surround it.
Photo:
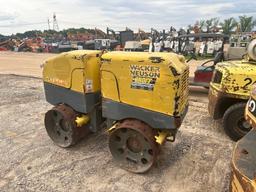
<path fill-rule="evenodd" d="M 0 0 L 0 34 L 48 29 L 55 12 L 60 29 L 98 27 L 149 31 L 196 20 L 254 16 L 256 0 Z M 52 27 L 52 23 L 51 23 Z"/>

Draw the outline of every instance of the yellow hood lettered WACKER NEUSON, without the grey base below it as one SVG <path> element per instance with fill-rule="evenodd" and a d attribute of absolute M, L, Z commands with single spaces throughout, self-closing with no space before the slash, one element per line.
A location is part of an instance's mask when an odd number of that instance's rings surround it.
<path fill-rule="evenodd" d="M 110 52 L 102 59 L 103 98 L 172 116 L 184 111 L 188 66 L 181 57 L 171 53 Z M 179 97 L 178 105 L 175 97 Z"/>

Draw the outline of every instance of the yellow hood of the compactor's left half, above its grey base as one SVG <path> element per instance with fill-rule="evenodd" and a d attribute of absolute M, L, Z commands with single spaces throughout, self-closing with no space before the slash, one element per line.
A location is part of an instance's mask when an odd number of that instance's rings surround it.
<path fill-rule="evenodd" d="M 71 51 L 48 59 L 44 82 L 80 93 L 100 91 L 101 51 Z"/>

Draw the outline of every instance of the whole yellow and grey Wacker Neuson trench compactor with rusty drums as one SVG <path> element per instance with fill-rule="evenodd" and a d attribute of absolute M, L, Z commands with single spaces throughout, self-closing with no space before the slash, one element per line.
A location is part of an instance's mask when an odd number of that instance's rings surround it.
<path fill-rule="evenodd" d="M 174 141 L 188 109 L 188 65 L 174 53 L 71 51 L 43 65 L 49 137 L 70 147 L 107 125 L 123 169 L 142 173 Z M 105 123 L 104 123 L 105 122 Z"/>

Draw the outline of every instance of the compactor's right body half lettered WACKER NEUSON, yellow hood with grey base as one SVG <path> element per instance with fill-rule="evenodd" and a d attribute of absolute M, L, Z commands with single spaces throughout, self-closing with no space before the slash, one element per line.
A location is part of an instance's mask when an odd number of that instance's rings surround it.
<path fill-rule="evenodd" d="M 137 117 L 154 128 L 177 128 L 175 120 L 168 118 L 183 117 L 186 112 L 188 75 L 184 57 L 177 54 L 105 53 L 101 66 L 103 116 Z"/>

